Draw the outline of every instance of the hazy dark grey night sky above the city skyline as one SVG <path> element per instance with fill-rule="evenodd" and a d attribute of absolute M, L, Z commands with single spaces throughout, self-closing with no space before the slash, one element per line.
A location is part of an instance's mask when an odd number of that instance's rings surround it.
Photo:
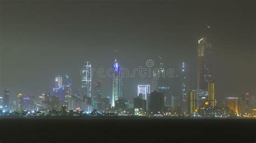
<path fill-rule="evenodd" d="M 84 61 L 110 68 L 114 49 L 125 68 L 145 66 L 163 56 L 165 68 L 189 66 L 196 86 L 198 40 L 205 23 L 213 29 L 213 79 L 217 99 L 251 92 L 255 95 L 255 2 L 241 1 L 2 1 L 3 85 L 11 99 L 18 92 L 51 91 L 54 76 L 69 74 L 80 86 Z M 93 78 L 93 81 L 99 78 Z M 111 79 L 102 78 L 104 96 Z M 125 78 L 124 94 L 150 78 Z M 176 79 L 170 78 L 173 93 Z"/>

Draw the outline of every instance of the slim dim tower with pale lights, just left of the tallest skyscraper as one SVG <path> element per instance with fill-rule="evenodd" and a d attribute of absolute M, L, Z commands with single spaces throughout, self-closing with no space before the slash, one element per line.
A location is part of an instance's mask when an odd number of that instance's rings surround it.
<path fill-rule="evenodd" d="M 181 74 L 180 74 L 180 83 L 181 83 L 181 97 L 179 98 L 181 102 L 181 112 L 187 112 L 187 79 L 186 79 L 186 70 L 185 70 L 185 62 L 182 62 Z"/>

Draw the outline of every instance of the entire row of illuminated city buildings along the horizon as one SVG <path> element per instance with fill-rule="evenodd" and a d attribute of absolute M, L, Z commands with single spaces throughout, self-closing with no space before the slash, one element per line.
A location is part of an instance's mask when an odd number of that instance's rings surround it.
<path fill-rule="evenodd" d="M 209 26 L 207 26 L 209 27 Z M 208 30 L 211 30 L 209 28 Z M 227 96 L 223 101 L 215 98 L 212 77 L 212 35 L 205 34 L 198 41 L 197 88 L 188 87 L 187 65 L 180 64 L 179 95 L 171 94 L 164 77 L 163 58 L 152 71 L 152 82 L 138 85 L 138 94 L 131 104 L 123 94 L 123 75 L 120 62 L 114 59 L 112 95 L 102 92 L 102 81 L 92 83 L 92 64 L 84 62 L 80 88 L 73 91 L 68 75 L 57 75 L 52 91 L 39 96 L 22 93 L 9 102 L 9 89 L 0 94 L 0 115 L 51 115 L 51 116 L 171 116 L 171 117 L 256 117 L 256 97 L 249 93 Z"/>

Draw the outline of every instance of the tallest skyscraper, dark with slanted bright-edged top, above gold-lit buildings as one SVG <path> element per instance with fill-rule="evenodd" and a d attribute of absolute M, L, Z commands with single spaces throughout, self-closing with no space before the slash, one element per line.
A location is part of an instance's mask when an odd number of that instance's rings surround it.
<path fill-rule="evenodd" d="M 212 79 L 212 39 L 211 27 L 207 26 L 206 34 L 198 41 L 197 88 L 202 90 L 207 90 Z"/>

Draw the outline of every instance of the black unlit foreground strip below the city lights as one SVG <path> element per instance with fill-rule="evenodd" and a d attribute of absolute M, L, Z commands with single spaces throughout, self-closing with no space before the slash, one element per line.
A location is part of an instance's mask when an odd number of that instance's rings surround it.
<path fill-rule="evenodd" d="M 255 119 L 2 118 L 0 142 L 255 142 Z"/>

